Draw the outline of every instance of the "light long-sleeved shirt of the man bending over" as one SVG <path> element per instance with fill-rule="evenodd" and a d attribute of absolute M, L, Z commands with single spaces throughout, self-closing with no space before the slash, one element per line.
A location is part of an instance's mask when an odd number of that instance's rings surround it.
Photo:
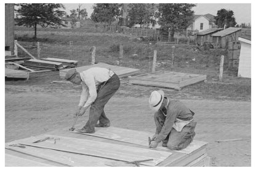
<path fill-rule="evenodd" d="M 78 106 L 90 106 L 97 98 L 98 85 L 106 82 L 113 74 L 113 71 L 106 68 L 90 68 L 80 72 L 82 93 Z"/>

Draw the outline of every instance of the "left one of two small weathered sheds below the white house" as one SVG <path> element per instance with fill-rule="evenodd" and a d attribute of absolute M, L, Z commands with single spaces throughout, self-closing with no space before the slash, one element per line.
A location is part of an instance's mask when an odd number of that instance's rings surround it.
<path fill-rule="evenodd" d="M 212 34 L 221 31 L 222 28 L 212 28 L 206 29 L 205 31 L 201 31 L 200 33 L 196 34 L 196 44 L 202 45 L 204 42 L 212 42 Z"/>

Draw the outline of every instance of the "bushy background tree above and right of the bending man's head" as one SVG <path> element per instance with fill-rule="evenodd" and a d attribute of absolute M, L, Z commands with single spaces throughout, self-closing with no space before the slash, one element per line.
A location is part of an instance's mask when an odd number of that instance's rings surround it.
<path fill-rule="evenodd" d="M 96 4 L 90 18 L 95 22 L 107 22 L 108 25 L 119 18 L 122 4 Z"/>

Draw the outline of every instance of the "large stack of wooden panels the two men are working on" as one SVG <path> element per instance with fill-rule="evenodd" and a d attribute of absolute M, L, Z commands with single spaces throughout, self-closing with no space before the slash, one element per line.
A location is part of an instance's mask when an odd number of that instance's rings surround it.
<path fill-rule="evenodd" d="M 94 135 L 68 128 L 6 143 L 7 166 L 209 166 L 206 142 L 193 141 L 180 151 L 161 144 L 149 149 L 148 132 L 109 127 L 95 128 Z M 46 138 L 50 140 L 35 143 Z M 11 161 L 15 156 L 22 161 Z"/>

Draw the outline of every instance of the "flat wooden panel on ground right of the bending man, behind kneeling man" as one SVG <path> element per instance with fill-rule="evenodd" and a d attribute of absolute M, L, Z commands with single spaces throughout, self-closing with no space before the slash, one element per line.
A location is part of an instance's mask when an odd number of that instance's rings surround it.
<path fill-rule="evenodd" d="M 187 85 L 206 80 L 206 75 L 182 72 L 158 71 L 149 74 L 129 77 L 129 83 L 154 87 L 174 88 L 181 90 Z"/>

